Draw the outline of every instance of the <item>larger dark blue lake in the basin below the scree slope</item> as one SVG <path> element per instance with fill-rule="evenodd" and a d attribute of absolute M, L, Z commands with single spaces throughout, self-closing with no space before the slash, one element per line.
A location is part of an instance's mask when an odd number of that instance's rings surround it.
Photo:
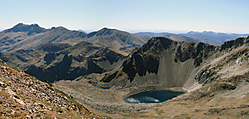
<path fill-rule="evenodd" d="M 129 96 L 126 101 L 129 103 L 160 103 L 172 99 L 182 92 L 170 92 L 165 90 L 146 91 Z"/>

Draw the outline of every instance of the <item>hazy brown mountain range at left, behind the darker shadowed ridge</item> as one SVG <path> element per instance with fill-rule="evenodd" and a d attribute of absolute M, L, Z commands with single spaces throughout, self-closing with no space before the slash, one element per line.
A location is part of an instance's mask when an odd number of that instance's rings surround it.
<path fill-rule="evenodd" d="M 80 31 L 71 31 L 64 27 L 45 29 L 38 24 L 25 25 L 19 23 L 0 33 L 0 51 L 30 50 L 46 43 L 75 45 L 81 41 L 88 41 L 100 46 L 130 52 L 135 47 L 143 45 L 148 39 L 147 37 L 139 37 L 128 32 L 107 28 L 86 34 Z"/>

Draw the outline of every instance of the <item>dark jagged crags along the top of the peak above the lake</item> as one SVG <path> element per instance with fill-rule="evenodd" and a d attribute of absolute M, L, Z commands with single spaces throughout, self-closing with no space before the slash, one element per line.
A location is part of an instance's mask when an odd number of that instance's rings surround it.
<path fill-rule="evenodd" d="M 202 63 L 202 59 L 207 58 L 210 53 L 214 52 L 215 47 L 204 43 L 187 43 L 187 42 L 174 42 L 167 38 L 153 38 L 140 49 L 132 52 L 131 58 L 123 64 L 123 71 L 128 75 L 131 73 L 133 79 L 135 74 L 144 76 L 148 73 L 158 73 L 159 60 L 163 51 L 169 50 L 170 55 L 174 56 L 174 62 L 185 62 L 189 59 L 194 59 L 195 67 Z"/>

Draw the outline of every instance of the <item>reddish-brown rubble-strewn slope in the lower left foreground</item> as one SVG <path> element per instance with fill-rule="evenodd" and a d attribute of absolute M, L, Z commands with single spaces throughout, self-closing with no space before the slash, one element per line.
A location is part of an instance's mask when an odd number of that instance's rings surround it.
<path fill-rule="evenodd" d="M 0 62 L 0 118 L 102 118 L 48 83 Z"/>

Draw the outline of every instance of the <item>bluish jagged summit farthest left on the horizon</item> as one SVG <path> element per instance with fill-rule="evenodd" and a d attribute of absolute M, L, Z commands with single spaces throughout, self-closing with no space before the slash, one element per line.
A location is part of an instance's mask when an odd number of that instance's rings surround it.
<path fill-rule="evenodd" d="M 5 30 L 5 33 L 8 32 L 28 32 L 28 35 L 32 33 L 41 33 L 45 31 L 45 28 L 40 27 L 38 24 L 26 25 L 23 23 L 18 23 L 14 27 Z"/>

